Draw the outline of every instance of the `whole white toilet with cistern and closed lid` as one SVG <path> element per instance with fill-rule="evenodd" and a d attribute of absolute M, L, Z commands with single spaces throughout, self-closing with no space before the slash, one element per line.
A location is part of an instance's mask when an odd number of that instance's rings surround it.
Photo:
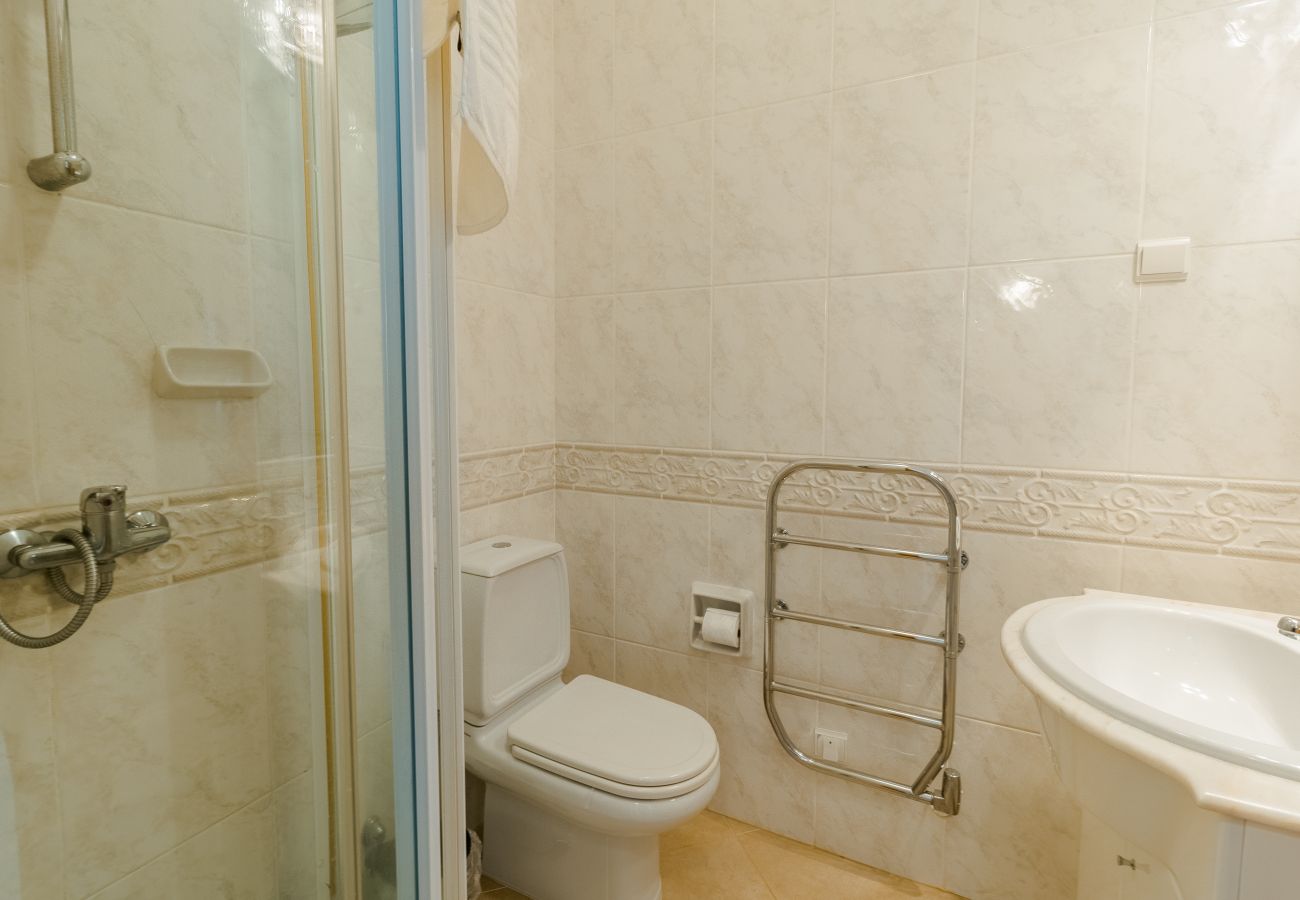
<path fill-rule="evenodd" d="M 488 786 L 484 871 L 533 900 L 655 900 L 659 835 L 718 788 L 692 710 L 590 675 L 560 680 L 569 597 L 559 544 L 462 548 L 465 767 Z"/>

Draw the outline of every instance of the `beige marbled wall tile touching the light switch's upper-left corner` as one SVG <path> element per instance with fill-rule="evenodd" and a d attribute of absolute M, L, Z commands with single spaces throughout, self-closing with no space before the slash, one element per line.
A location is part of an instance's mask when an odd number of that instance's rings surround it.
<path fill-rule="evenodd" d="M 980 62 L 971 261 L 1132 250 L 1147 38 L 1128 29 Z"/>

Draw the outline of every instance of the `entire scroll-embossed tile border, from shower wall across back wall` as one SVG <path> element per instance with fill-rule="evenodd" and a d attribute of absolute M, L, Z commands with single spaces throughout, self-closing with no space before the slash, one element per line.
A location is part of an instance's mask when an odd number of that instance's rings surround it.
<path fill-rule="evenodd" d="M 580 443 L 511 447 L 462 457 L 460 499 L 472 510 L 563 489 L 760 507 L 772 477 L 793 459 Z M 926 464 L 948 477 L 968 529 L 1300 561 L 1300 484 Z M 354 533 L 386 528 L 384 468 L 356 470 L 351 486 Z M 313 540 L 300 479 L 133 496 L 131 507 L 161 510 L 174 536 L 118 563 L 117 594 L 274 559 Z M 933 490 L 906 476 L 802 473 L 790 480 L 783 509 L 910 524 L 945 519 Z M 53 531 L 75 522 L 68 506 L 3 514 L 0 529 Z M 39 579 L 9 584 L 9 616 L 48 609 Z"/>

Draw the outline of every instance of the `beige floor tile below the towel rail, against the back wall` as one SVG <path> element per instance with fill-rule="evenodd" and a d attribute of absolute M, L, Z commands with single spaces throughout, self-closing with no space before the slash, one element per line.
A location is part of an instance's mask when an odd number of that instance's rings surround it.
<path fill-rule="evenodd" d="M 750 831 L 741 835 L 738 841 L 776 900 L 953 896 L 767 831 Z"/>

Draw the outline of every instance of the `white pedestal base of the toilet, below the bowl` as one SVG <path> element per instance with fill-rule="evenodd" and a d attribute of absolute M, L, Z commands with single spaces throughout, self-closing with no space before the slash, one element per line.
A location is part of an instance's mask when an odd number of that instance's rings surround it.
<path fill-rule="evenodd" d="M 488 784 L 484 871 L 532 900 L 659 900 L 659 835 L 608 835 Z"/>

